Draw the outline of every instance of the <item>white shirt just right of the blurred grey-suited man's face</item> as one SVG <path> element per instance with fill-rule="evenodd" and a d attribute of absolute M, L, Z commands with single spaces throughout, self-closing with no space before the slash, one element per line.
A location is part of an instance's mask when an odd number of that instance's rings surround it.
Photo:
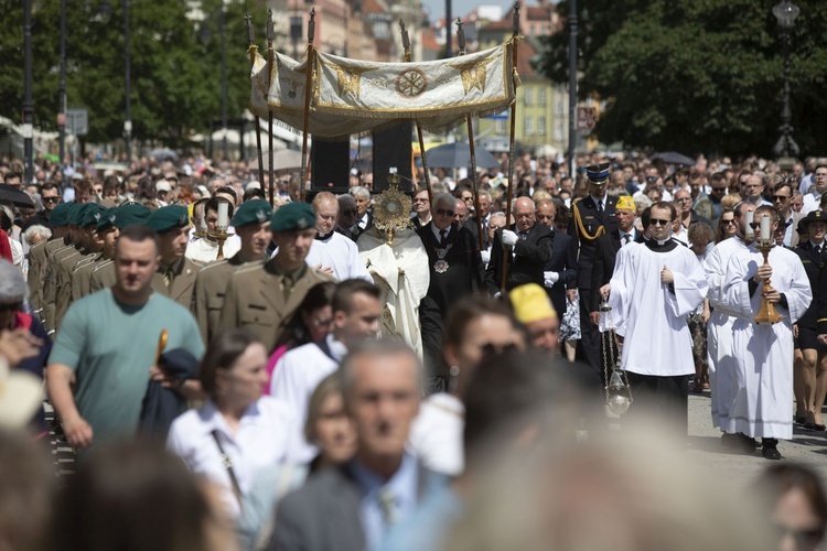
<path fill-rule="evenodd" d="M 464 468 L 462 431 L 465 406 L 445 392 L 431 395 L 419 406 L 410 426 L 408 451 L 436 473 L 457 476 Z"/>

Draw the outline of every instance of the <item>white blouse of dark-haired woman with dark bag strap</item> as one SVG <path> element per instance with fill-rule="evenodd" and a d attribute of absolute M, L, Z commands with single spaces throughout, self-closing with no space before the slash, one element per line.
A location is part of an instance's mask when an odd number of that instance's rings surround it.
<path fill-rule="evenodd" d="M 201 409 L 190 410 L 172 422 L 167 447 L 183 458 L 193 473 L 222 487 L 222 501 L 227 512 L 236 518 L 240 508 L 213 431 L 217 432 L 224 453 L 233 462 L 238 486 L 246 495 L 254 488 L 258 472 L 294 460 L 300 450 L 290 439 L 294 434 L 291 429 L 298 422 L 281 400 L 262 397 L 244 412 L 238 432 L 233 434 L 218 408 L 207 400 Z"/>

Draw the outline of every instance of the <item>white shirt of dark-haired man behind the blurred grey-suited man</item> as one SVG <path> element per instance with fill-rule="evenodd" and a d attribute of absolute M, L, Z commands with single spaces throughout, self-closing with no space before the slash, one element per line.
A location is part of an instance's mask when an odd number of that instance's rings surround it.
<path fill-rule="evenodd" d="M 325 341 L 333 358 L 324 354 L 315 343 L 308 343 L 281 356 L 270 381 L 270 396 L 287 403 L 298 420 L 291 432 L 298 442 L 300 463 L 309 463 L 316 455 L 316 447 L 304 440 L 304 421 L 308 419 L 310 395 L 322 379 L 339 369 L 339 363 L 347 354 L 345 346 L 332 334 L 329 334 Z"/>

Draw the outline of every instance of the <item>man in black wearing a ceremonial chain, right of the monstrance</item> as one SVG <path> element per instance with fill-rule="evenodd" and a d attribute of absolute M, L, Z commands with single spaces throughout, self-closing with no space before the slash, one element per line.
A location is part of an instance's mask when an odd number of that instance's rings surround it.
<path fill-rule="evenodd" d="M 432 371 L 430 391 L 444 390 L 448 381 L 448 366 L 442 360 L 442 321 L 458 300 L 483 290 L 477 240 L 454 219 L 454 205 L 461 203 L 450 193 L 438 193 L 433 196 L 431 222 L 417 230 L 431 272 L 428 293 L 419 304 L 422 352 Z"/>

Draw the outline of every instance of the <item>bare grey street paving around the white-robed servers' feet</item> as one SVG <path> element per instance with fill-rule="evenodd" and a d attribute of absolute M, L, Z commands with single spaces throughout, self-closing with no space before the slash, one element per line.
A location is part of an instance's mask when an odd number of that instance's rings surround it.
<path fill-rule="evenodd" d="M 774 462 L 764 460 L 760 449 L 752 456 L 724 449 L 720 442 L 721 432 L 712 428 L 709 411 L 708 391 L 702 395 L 689 395 L 688 456 L 694 463 L 697 462 L 704 472 L 708 468 L 723 484 L 738 490 Z M 784 456 L 782 461 L 808 465 L 827 478 L 827 433 L 824 431 L 805 431 L 796 425 L 794 439 L 790 442 L 781 441 L 778 451 Z"/>

